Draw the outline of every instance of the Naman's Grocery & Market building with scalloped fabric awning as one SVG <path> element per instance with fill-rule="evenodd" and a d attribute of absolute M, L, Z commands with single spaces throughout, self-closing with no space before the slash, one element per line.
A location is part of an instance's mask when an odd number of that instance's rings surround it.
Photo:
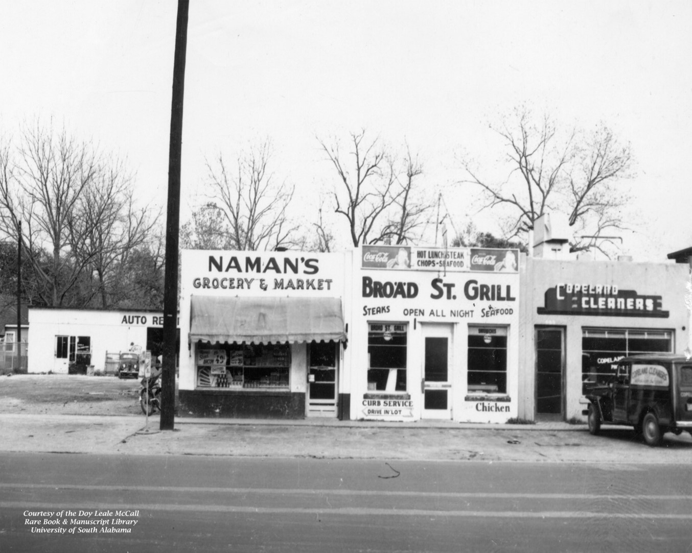
<path fill-rule="evenodd" d="M 343 417 L 350 254 L 185 250 L 181 262 L 181 415 Z"/>

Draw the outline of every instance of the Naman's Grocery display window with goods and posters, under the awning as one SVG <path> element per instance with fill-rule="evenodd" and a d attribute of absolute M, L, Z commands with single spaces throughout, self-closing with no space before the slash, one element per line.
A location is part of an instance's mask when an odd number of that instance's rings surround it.
<path fill-rule="evenodd" d="M 233 344 L 197 348 L 197 387 L 289 390 L 289 344 Z"/>

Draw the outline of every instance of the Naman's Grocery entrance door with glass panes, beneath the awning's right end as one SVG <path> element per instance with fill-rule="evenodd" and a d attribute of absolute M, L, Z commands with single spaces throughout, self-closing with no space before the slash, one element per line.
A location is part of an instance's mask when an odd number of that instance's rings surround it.
<path fill-rule="evenodd" d="M 306 402 L 309 417 L 336 417 L 337 368 L 338 344 L 333 341 L 309 344 Z"/>

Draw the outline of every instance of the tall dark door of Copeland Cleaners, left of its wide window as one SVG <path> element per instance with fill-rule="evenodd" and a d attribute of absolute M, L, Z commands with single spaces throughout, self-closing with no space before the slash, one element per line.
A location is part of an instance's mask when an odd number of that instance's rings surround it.
<path fill-rule="evenodd" d="M 536 414 L 563 415 L 565 331 L 536 328 Z"/>

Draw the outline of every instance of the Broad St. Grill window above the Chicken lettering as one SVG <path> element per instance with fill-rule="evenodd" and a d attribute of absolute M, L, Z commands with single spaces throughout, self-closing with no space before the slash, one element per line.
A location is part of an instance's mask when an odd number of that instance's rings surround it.
<path fill-rule="evenodd" d="M 507 393 L 506 327 L 468 327 L 468 392 Z"/>

